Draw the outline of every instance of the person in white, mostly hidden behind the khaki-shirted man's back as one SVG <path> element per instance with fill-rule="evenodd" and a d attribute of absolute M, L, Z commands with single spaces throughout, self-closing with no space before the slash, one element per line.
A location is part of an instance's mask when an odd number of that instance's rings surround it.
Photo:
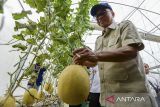
<path fill-rule="evenodd" d="M 156 98 L 158 107 L 160 107 L 160 81 L 157 75 L 151 74 L 149 65 L 144 63 L 144 70 L 151 89 L 152 95 Z"/>

